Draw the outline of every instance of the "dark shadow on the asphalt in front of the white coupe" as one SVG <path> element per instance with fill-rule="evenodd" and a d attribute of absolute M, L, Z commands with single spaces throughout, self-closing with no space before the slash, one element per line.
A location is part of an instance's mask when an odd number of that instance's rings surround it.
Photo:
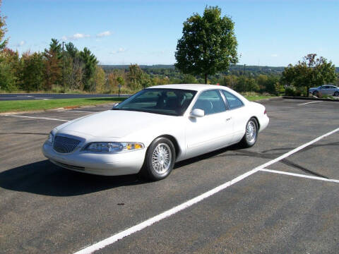
<path fill-rule="evenodd" d="M 47 159 L 0 173 L 1 188 L 58 197 L 83 195 L 143 183 L 147 182 L 136 175 L 83 174 L 58 167 Z"/>

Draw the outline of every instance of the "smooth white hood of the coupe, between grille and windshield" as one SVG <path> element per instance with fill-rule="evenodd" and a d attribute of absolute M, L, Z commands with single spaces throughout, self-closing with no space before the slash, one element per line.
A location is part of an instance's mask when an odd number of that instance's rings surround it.
<path fill-rule="evenodd" d="M 58 133 L 83 133 L 93 137 L 122 138 L 144 128 L 165 124 L 173 118 L 177 118 L 177 116 L 108 110 L 65 123 L 57 130 Z"/>

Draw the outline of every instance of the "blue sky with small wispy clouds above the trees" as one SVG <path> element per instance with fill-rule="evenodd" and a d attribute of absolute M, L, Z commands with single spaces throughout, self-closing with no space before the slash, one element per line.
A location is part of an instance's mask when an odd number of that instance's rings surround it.
<path fill-rule="evenodd" d="M 52 38 L 100 64 L 173 64 L 186 18 L 219 6 L 234 21 L 239 64 L 287 66 L 315 53 L 339 66 L 338 0 L 2 0 L 8 47 L 43 52 Z"/>

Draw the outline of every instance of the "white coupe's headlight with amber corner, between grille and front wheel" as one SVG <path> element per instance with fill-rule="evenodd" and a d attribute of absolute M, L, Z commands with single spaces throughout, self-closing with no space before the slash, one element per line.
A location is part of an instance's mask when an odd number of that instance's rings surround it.
<path fill-rule="evenodd" d="M 85 151 L 91 152 L 129 152 L 143 149 L 142 143 L 126 142 L 93 142 L 85 146 Z"/>

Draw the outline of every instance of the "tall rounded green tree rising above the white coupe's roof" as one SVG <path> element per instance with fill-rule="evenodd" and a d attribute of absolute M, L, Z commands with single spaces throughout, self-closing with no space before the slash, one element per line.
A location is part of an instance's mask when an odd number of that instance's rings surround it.
<path fill-rule="evenodd" d="M 221 17 L 221 8 L 207 7 L 201 17 L 198 13 L 187 18 L 178 40 L 174 66 L 182 73 L 208 75 L 226 71 L 238 61 L 237 38 L 234 23 L 227 16 Z"/>

